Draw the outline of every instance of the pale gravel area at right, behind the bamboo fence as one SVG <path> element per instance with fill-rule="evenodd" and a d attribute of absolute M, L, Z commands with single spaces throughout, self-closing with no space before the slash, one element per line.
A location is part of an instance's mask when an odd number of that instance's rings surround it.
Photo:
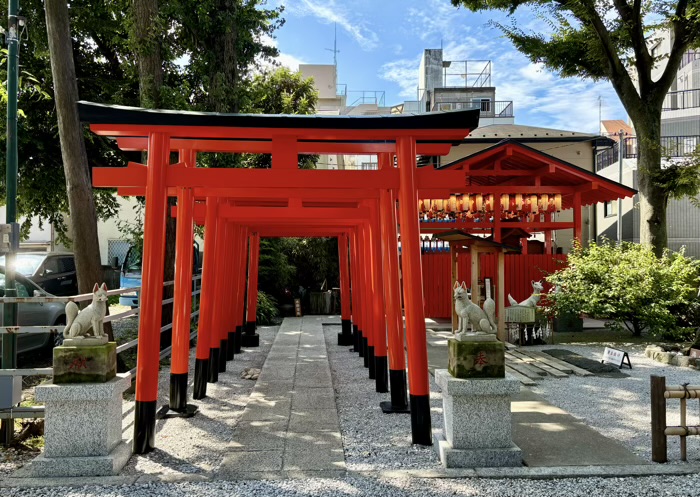
<path fill-rule="evenodd" d="M 533 349 L 566 349 L 584 357 L 599 361 L 605 345 L 560 345 L 538 346 Z M 536 387 L 536 393 L 549 402 L 583 420 L 603 435 L 618 440 L 647 461 L 651 461 L 651 432 L 649 377 L 665 376 L 667 385 L 700 384 L 700 371 L 661 364 L 644 356 L 643 345 L 616 346 L 630 355 L 632 369 L 623 368 L 628 378 L 603 378 L 598 376 L 569 376 L 556 379 L 545 377 Z M 565 384 L 564 384 L 565 383 Z M 668 425 L 680 424 L 677 399 L 667 401 Z M 698 409 L 700 402 L 688 401 L 688 424 L 700 425 Z M 669 462 L 680 461 L 680 438 L 668 438 Z M 700 462 L 700 437 L 687 437 L 688 461 Z M 700 495 L 700 490 L 696 495 Z"/>

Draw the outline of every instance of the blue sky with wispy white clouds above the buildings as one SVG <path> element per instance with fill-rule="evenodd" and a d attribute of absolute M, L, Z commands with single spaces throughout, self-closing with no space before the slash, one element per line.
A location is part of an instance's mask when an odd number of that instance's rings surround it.
<path fill-rule="evenodd" d="M 270 0 L 284 5 L 285 25 L 275 43 L 280 62 L 332 64 L 334 23 L 338 32 L 338 82 L 352 90 L 386 92 L 386 104 L 413 100 L 423 50 L 445 50 L 446 60 L 492 61 L 497 100 L 514 102 L 515 122 L 581 132 L 597 132 L 599 97 L 603 119 L 626 119 L 608 82 L 559 78 L 519 54 L 490 20 L 510 25 L 500 12 L 475 14 L 449 0 Z M 543 25 L 528 12 L 518 26 Z"/>

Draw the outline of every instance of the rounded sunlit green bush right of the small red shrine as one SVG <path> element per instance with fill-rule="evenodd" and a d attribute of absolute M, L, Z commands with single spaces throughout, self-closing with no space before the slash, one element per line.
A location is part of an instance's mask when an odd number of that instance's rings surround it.
<path fill-rule="evenodd" d="M 700 261 L 685 257 L 683 250 L 657 257 L 648 245 L 604 241 L 574 247 L 568 261 L 547 277 L 557 289 L 548 295 L 549 312 L 606 319 L 635 336 L 644 330 L 677 333 L 692 325 L 684 318 L 695 305 Z"/>

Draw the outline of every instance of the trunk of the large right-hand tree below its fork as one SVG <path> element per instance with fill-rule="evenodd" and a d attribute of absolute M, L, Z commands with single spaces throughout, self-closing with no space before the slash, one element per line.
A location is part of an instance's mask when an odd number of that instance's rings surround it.
<path fill-rule="evenodd" d="M 639 189 L 639 242 L 650 244 L 657 256 L 668 246 L 668 195 L 659 186 L 661 172 L 661 110 L 645 107 L 633 117 L 637 132 Z"/>

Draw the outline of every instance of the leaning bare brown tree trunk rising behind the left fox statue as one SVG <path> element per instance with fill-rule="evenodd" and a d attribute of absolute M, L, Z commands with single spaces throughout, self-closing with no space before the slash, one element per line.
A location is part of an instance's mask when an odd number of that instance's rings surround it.
<path fill-rule="evenodd" d="M 103 275 L 97 238 L 95 199 L 92 194 L 83 129 L 78 117 L 78 83 L 73 61 L 68 4 L 66 0 L 46 0 L 44 3 L 78 289 L 80 293 L 89 293 L 92 292 L 95 283 L 102 281 Z M 105 325 L 110 340 L 113 340 L 111 326 L 109 323 Z"/>

